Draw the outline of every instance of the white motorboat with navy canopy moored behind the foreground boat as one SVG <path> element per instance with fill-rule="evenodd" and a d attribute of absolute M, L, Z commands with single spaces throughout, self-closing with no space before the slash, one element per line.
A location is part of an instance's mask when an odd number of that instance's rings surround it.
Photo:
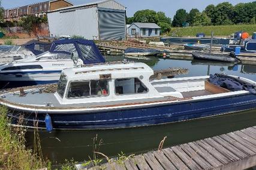
<path fill-rule="evenodd" d="M 1 88 L 58 82 L 63 69 L 74 67 L 74 58 L 77 58 L 77 65 L 105 62 L 93 41 L 59 40 L 53 42 L 49 51 L 37 57 L 1 64 Z"/>

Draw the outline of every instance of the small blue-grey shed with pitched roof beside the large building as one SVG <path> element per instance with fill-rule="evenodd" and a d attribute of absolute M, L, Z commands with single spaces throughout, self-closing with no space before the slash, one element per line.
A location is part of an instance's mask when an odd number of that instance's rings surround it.
<path fill-rule="evenodd" d="M 127 34 L 131 38 L 156 37 L 160 36 L 160 29 L 155 23 L 132 23 L 127 29 Z"/>

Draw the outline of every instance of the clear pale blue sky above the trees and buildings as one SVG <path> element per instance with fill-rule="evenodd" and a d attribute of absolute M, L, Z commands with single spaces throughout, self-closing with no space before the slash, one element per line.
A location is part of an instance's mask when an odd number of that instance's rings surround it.
<path fill-rule="evenodd" d="M 47 0 L 46 0 L 47 1 Z M 94 2 L 95 0 L 69 0 L 75 5 L 86 4 Z M 197 8 L 203 11 L 207 5 L 219 4 L 227 2 L 228 0 L 116 0 L 120 4 L 127 7 L 127 16 L 132 17 L 138 10 L 155 10 L 163 11 L 167 17 L 173 18 L 174 14 L 180 8 L 190 11 L 192 8 Z M 252 2 L 253 0 L 229 0 L 233 5 L 240 2 Z M 255 1 L 255 0 L 254 0 Z M 5 9 L 20 7 L 22 5 L 34 4 L 36 2 L 43 2 L 43 0 L 2 0 L 2 7 Z"/>

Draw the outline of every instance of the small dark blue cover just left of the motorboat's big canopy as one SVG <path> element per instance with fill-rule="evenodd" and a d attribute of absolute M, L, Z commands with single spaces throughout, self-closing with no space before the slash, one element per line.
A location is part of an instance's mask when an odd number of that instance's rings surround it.
<path fill-rule="evenodd" d="M 22 45 L 29 51 L 33 52 L 35 55 L 42 54 L 43 52 L 49 51 L 52 43 L 49 42 L 41 42 L 35 39 L 27 42 L 26 44 Z"/>

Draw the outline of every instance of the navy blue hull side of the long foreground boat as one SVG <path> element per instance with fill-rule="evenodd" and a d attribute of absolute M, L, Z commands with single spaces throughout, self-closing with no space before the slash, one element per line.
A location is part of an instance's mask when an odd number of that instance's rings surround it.
<path fill-rule="evenodd" d="M 133 106 L 121 109 L 106 109 L 95 112 L 64 110 L 49 112 L 54 129 L 109 129 L 131 128 L 136 126 L 158 125 L 191 119 L 207 118 L 227 113 L 256 108 L 256 95 L 251 93 L 219 97 L 207 100 L 179 101 L 158 105 Z M 8 116 L 13 125 L 17 125 L 19 116 L 24 116 L 25 126 L 46 128 L 46 112 L 32 112 L 9 108 Z"/>

